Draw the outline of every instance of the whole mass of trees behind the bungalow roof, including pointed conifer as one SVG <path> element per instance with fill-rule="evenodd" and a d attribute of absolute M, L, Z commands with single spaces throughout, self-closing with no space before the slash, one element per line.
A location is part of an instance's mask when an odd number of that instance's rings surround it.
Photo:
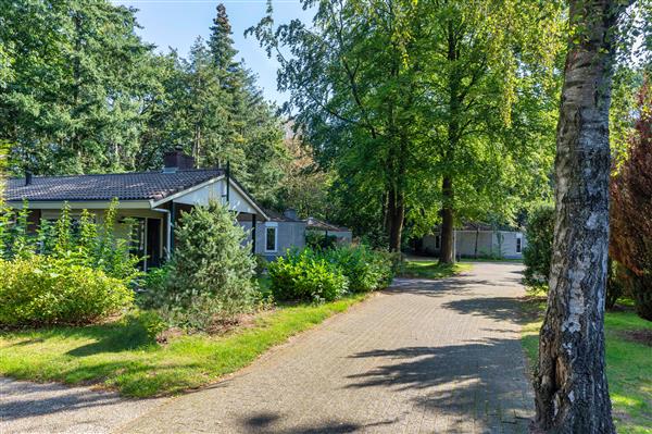
<path fill-rule="evenodd" d="M 166 151 L 184 146 L 201 166 L 230 160 L 259 200 L 273 201 L 287 158 L 281 123 L 236 60 L 224 7 L 209 45 L 198 40 L 187 60 L 143 42 L 135 13 L 108 0 L 0 2 L 10 171 L 160 169 Z"/>

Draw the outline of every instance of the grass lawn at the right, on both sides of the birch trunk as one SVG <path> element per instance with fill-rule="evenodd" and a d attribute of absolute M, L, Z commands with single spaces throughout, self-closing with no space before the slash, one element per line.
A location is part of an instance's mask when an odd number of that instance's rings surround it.
<path fill-rule="evenodd" d="M 523 345 L 531 367 L 537 360 L 544 306 L 541 299 L 525 303 L 529 321 L 523 328 Z M 652 347 L 624 335 L 627 331 L 652 332 L 652 322 L 641 320 L 631 311 L 607 312 L 604 326 L 606 376 L 618 433 L 652 433 Z"/>

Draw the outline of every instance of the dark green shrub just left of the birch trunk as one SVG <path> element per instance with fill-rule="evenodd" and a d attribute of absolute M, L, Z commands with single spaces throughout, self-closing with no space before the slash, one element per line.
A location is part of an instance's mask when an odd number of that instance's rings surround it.
<path fill-rule="evenodd" d="M 539 206 L 527 220 L 527 247 L 523 250 L 525 278 L 530 284 L 547 285 L 552 261 L 554 207 Z"/>

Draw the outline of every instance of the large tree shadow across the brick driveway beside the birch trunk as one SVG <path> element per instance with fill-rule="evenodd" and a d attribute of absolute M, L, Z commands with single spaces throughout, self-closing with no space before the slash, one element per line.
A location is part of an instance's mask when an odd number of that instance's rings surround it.
<path fill-rule="evenodd" d="M 349 375 L 347 388 L 408 393 L 417 408 L 444 417 L 448 430 L 464 432 L 471 418 L 475 426 L 489 432 L 525 432 L 532 416 L 521 342 L 516 338 L 375 349 L 351 357 L 381 358 L 385 362 Z"/>

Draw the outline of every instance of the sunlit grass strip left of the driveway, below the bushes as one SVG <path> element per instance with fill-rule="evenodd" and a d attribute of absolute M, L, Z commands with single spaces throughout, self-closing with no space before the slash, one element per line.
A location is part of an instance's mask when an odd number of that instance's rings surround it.
<path fill-rule="evenodd" d="M 180 335 L 149 343 L 124 323 L 0 334 L 0 375 L 99 384 L 134 397 L 176 394 L 215 382 L 289 336 L 347 310 L 366 296 L 279 308 L 223 336 Z"/>

